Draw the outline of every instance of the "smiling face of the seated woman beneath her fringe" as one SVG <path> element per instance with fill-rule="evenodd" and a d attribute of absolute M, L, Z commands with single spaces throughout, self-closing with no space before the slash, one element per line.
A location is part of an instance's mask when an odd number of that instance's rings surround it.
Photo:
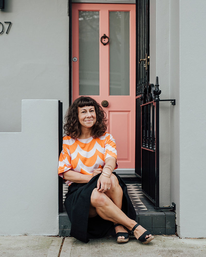
<path fill-rule="evenodd" d="M 81 129 L 91 128 L 96 122 L 96 112 L 94 106 L 78 107 L 78 118 Z"/>

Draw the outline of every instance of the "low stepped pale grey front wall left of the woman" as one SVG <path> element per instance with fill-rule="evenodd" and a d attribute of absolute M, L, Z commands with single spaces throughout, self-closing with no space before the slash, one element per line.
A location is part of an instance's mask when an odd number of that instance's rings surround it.
<path fill-rule="evenodd" d="M 0 142 L 0 235 L 57 235 L 58 100 L 22 100 L 22 132 Z"/>

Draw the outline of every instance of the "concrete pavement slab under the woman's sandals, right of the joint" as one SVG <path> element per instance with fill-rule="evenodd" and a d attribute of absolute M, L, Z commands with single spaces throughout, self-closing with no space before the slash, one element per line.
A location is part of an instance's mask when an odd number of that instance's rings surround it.
<path fill-rule="evenodd" d="M 155 236 L 149 244 L 142 244 L 134 237 L 129 242 L 117 244 L 114 237 L 91 239 L 85 244 L 73 237 L 66 237 L 60 257 L 205 257 L 206 238 L 178 238 L 175 235 Z"/>

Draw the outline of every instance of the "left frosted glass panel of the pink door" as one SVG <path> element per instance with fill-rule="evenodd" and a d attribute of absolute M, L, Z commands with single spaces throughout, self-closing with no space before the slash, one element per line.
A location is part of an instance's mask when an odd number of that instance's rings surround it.
<path fill-rule="evenodd" d="M 99 12 L 79 11 L 79 95 L 99 95 Z"/>

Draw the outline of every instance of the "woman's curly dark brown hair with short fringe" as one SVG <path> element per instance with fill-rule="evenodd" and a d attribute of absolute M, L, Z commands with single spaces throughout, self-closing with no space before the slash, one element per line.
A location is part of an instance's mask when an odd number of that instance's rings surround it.
<path fill-rule="evenodd" d="M 89 96 L 80 96 L 74 103 L 68 108 L 64 117 L 64 133 L 67 136 L 71 136 L 73 139 L 77 139 L 81 135 L 81 128 L 78 118 L 78 107 L 94 106 L 96 112 L 96 123 L 92 127 L 92 137 L 97 138 L 102 136 L 108 125 L 108 119 L 106 118 L 106 112 L 102 109 L 100 104 L 95 99 Z"/>

